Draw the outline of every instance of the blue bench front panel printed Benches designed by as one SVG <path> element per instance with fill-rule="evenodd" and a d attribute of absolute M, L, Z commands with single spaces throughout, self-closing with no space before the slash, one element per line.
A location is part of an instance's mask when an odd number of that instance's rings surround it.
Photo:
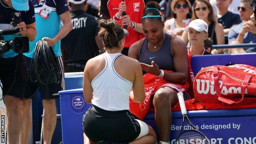
<path fill-rule="evenodd" d="M 190 118 L 192 124 L 208 137 L 210 144 L 256 144 L 256 116 L 255 117 L 217 117 Z M 170 144 L 175 140 L 182 128 L 182 119 L 174 119 L 171 125 Z M 185 123 L 184 129 L 191 129 Z M 181 142 L 179 144 L 194 144 Z M 197 142 L 196 144 L 203 144 Z"/>

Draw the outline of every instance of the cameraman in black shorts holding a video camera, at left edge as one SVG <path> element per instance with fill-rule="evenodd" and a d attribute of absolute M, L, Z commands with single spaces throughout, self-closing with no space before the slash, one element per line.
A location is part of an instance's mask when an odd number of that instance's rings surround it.
<path fill-rule="evenodd" d="M 0 0 L 0 29 L 12 26 L 10 24 L 12 13 L 21 18 L 21 23 L 16 26 L 20 32 L 15 35 L 5 35 L 3 36 L 4 40 L 11 41 L 14 37 L 21 35 L 33 41 L 36 27 L 32 2 L 28 0 Z M 26 61 L 22 54 L 9 50 L 0 58 L 0 79 L 7 110 L 8 141 L 9 144 L 17 144 L 21 129 L 21 99 L 28 79 Z"/>

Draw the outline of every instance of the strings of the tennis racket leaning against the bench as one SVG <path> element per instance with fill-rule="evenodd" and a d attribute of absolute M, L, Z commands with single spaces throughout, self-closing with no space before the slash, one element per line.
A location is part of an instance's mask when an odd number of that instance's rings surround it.
<path fill-rule="evenodd" d="M 206 137 L 197 131 L 185 131 L 181 134 L 176 144 L 209 144 Z"/>

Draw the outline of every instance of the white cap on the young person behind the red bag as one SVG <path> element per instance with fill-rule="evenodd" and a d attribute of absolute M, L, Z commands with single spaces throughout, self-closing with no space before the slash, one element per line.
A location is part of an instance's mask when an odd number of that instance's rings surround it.
<path fill-rule="evenodd" d="M 189 28 L 193 28 L 198 32 L 205 31 L 208 32 L 208 25 L 205 21 L 201 19 L 195 19 L 189 23 L 189 25 L 185 28 L 185 31 L 187 32 Z"/>

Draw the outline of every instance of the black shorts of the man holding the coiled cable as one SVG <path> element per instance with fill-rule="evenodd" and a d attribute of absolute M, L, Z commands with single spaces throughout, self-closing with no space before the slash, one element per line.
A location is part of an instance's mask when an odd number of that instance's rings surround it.
<path fill-rule="evenodd" d="M 30 73 L 30 65 L 32 58 L 25 57 L 27 60 L 27 73 Z M 32 98 L 34 94 L 39 90 L 41 98 L 44 99 L 55 99 L 59 98 L 59 91 L 64 90 L 62 87 L 65 88 L 64 82 L 64 69 L 62 63 L 62 57 L 56 57 L 56 61 L 60 66 L 62 73 L 59 75 L 59 83 L 51 83 L 48 85 L 41 85 L 39 82 L 32 82 L 29 78 L 26 89 L 25 89 L 25 96 L 26 98 Z"/>

